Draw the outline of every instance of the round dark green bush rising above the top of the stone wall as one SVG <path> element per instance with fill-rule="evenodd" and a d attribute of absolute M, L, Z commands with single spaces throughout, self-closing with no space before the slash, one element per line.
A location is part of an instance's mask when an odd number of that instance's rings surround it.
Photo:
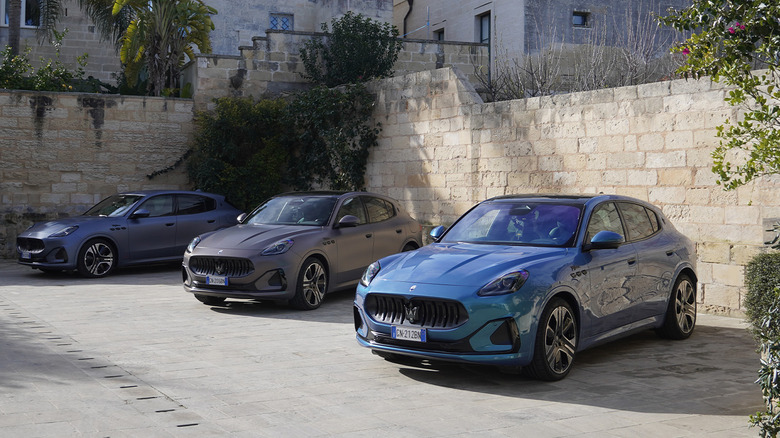
<path fill-rule="evenodd" d="M 335 87 L 392 75 L 403 47 L 395 26 L 352 12 L 333 19 L 331 26 L 332 31 L 323 23 L 324 39 L 315 37 L 301 49 L 304 77 Z"/>

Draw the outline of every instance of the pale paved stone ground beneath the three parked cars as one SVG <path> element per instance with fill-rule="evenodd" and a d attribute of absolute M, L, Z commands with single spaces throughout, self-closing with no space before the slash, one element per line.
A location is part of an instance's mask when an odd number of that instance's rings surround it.
<path fill-rule="evenodd" d="M 351 291 L 312 312 L 208 307 L 175 266 L 100 280 L 0 261 L 0 436 L 753 437 L 758 357 L 737 319 L 648 331 L 543 383 L 413 367 L 354 340 Z"/>

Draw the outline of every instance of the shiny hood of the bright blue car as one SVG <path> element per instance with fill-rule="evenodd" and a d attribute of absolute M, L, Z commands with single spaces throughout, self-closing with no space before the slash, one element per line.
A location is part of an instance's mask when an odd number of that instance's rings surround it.
<path fill-rule="evenodd" d="M 380 260 L 375 280 L 481 287 L 501 275 L 565 255 L 567 248 L 434 243 Z"/>

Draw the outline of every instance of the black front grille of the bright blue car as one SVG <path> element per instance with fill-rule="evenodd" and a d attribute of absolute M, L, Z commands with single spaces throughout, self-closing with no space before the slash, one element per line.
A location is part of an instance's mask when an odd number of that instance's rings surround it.
<path fill-rule="evenodd" d="M 453 328 L 468 321 L 466 308 L 457 301 L 370 294 L 368 315 L 385 324 L 408 324 L 426 328 Z"/>

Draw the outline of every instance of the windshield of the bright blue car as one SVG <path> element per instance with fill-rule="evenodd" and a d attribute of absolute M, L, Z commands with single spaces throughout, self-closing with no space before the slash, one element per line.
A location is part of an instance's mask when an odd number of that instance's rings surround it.
<path fill-rule="evenodd" d="M 576 205 L 486 202 L 456 222 L 441 242 L 571 246 L 580 216 L 581 208 Z"/>

